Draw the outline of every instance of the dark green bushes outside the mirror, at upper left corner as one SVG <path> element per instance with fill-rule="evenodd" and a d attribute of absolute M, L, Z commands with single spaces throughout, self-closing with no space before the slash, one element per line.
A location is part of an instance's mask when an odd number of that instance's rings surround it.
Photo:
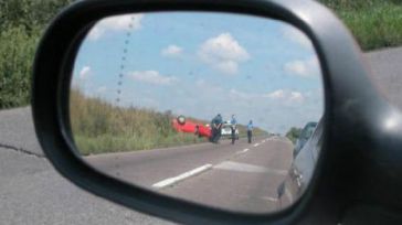
<path fill-rule="evenodd" d="M 0 109 L 28 105 L 38 41 L 72 0 L 0 0 Z"/>

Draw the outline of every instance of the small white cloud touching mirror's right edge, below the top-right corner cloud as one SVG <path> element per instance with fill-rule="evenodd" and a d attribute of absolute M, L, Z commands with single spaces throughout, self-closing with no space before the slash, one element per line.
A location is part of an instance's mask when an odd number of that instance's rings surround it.
<path fill-rule="evenodd" d="M 288 62 L 284 65 L 284 71 L 292 75 L 302 77 L 315 77 L 320 75 L 320 67 L 317 57 Z"/>

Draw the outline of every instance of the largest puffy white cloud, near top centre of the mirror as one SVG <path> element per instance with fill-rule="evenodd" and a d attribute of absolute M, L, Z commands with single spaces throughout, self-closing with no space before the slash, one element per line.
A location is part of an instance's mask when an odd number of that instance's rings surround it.
<path fill-rule="evenodd" d="M 236 74 L 239 64 L 250 58 L 247 51 L 230 33 L 207 40 L 198 55 L 202 62 L 224 74 Z"/>

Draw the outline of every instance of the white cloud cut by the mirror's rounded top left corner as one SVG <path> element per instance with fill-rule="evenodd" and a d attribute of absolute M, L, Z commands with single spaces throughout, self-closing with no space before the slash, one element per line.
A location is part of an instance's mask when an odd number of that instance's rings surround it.
<path fill-rule="evenodd" d="M 96 41 L 110 31 L 118 32 L 139 30 L 141 28 L 142 18 L 144 14 L 125 14 L 106 18 L 96 23 L 96 25 L 91 30 L 88 39 Z"/>

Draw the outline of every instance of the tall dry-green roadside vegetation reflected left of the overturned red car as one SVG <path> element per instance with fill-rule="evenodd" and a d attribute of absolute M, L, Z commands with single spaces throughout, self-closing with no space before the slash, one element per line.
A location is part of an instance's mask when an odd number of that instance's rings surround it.
<path fill-rule="evenodd" d="M 71 125 L 81 154 L 135 151 L 204 142 L 191 133 L 179 133 L 171 111 L 116 107 L 96 97 L 71 93 Z"/>

